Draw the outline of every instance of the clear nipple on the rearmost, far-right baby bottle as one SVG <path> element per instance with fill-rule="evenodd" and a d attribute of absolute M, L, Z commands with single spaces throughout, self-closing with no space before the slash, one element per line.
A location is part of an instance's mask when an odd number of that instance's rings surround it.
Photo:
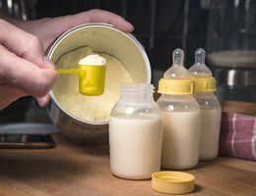
<path fill-rule="evenodd" d="M 205 65 L 206 51 L 198 48 L 195 52 L 195 64 L 188 70 L 193 77 L 211 77 L 213 73 Z"/>

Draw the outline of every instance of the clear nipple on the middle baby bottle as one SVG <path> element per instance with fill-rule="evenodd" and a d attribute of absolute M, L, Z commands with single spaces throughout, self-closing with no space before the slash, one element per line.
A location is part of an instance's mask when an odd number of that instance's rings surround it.
<path fill-rule="evenodd" d="M 184 52 L 175 49 L 172 53 L 172 66 L 163 74 L 165 79 L 191 79 L 190 73 L 183 66 Z"/>

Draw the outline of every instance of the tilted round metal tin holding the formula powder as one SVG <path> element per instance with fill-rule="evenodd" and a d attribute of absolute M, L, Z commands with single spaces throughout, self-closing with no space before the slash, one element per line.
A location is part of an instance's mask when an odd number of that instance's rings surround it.
<path fill-rule="evenodd" d="M 47 57 L 55 64 L 63 54 L 83 46 L 90 46 L 96 52 L 118 59 L 131 73 L 135 83 L 151 82 L 151 66 L 142 45 L 132 34 L 112 25 L 88 24 L 74 27 L 55 41 Z M 49 117 L 66 137 L 87 143 L 107 139 L 108 122 L 87 122 L 74 117 L 62 108 L 52 91 L 50 96 L 52 100 L 47 108 Z"/>

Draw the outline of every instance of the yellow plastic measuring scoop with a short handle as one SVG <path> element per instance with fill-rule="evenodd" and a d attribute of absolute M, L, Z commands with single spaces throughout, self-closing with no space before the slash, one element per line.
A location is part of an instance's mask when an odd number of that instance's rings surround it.
<path fill-rule="evenodd" d="M 79 65 L 79 69 L 56 70 L 58 73 L 77 73 L 79 92 L 83 95 L 96 96 L 104 92 L 105 65 Z"/>

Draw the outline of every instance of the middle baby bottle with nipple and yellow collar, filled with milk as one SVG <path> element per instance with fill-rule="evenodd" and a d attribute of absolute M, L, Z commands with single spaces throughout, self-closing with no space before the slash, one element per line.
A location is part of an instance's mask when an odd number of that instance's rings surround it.
<path fill-rule="evenodd" d="M 185 170 L 198 164 L 201 110 L 193 97 L 193 80 L 183 67 L 184 53 L 173 52 L 173 65 L 160 79 L 158 100 L 162 118 L 161 167 Z"/>

